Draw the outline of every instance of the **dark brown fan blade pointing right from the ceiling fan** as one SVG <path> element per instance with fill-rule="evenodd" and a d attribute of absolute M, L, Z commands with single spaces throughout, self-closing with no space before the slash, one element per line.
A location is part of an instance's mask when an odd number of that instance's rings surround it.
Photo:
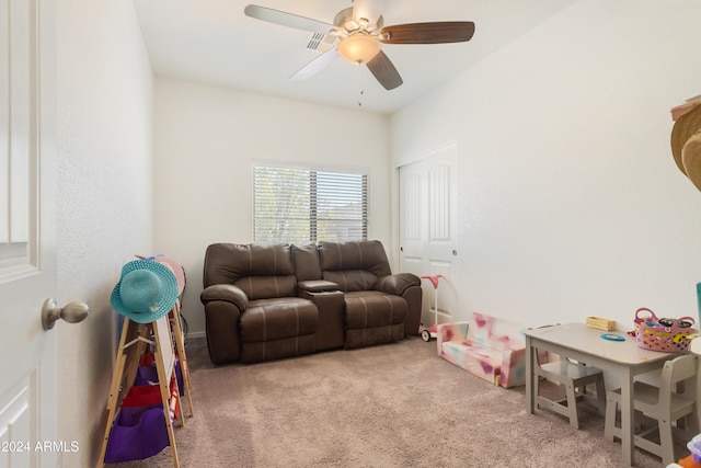
<path fill-rule="evenodd" d="M 441 21 L 386 26 L 379 39 L 384 44 L 445 44 L 470 41 L 473 34 L 472 21 Z"/>

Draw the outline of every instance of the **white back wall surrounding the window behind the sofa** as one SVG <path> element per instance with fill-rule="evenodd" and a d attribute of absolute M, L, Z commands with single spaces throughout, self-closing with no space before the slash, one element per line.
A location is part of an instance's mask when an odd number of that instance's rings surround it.
<path fill-rule="evenodd" d="M 204 333 L 205 250 L 252 241 L 255 160 L 369 169 L 368 237 L 389 244 L 388 117 L 171 79 L 154 89 L 154 253 L 187 275 L 183 316 Z"/>

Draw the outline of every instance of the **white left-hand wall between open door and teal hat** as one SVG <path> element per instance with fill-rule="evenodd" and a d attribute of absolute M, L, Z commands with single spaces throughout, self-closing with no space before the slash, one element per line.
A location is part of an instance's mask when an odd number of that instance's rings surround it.
<path fill-rule="evenodd" d="M 152 240 L 152 76 L 129 1 L 58 2 L 58 295 L 89 318 L 59 322 L 65 467 L 96 466 L 117 346 L 110 293 Z"/>

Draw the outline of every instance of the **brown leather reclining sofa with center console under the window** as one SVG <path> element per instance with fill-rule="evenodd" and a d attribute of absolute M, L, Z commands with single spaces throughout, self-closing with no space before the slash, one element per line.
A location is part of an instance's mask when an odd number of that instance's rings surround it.
<path fill-rule="evenodd" d="M 211 362 L 253 363 L 417 334 L 422 289 L 379 241 L 215 243 L 200 299 Z"/>

